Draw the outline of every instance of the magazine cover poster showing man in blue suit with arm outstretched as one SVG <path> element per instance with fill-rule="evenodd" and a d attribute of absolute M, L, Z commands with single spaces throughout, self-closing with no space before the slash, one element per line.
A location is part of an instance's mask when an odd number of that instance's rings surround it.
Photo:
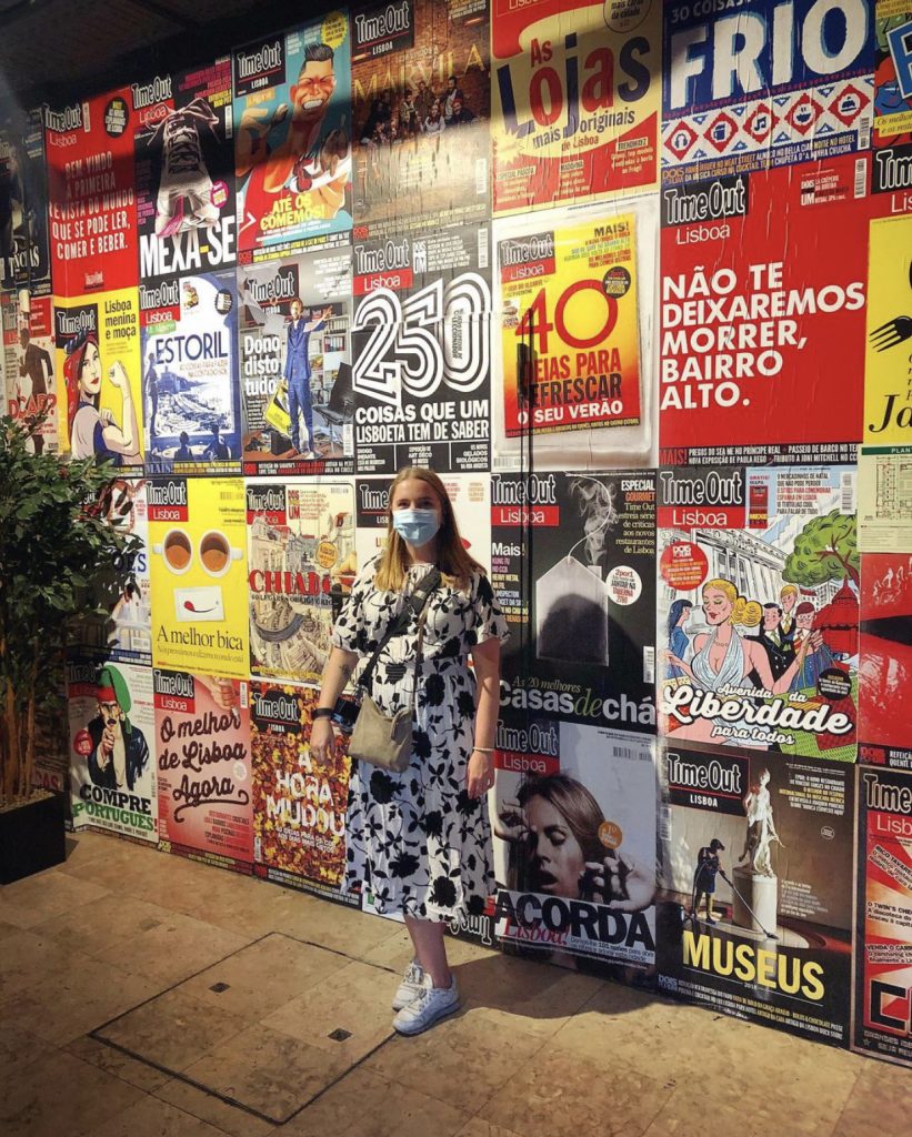
<path fill-rule="evenodd" d="M 244 473 L 350 473 L 350 244 L 242 265 L 238 290 Z"/>

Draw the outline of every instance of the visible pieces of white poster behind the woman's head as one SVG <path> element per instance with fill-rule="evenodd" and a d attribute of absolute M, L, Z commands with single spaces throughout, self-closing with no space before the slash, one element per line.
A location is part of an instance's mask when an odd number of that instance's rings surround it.
<path fill-rule="evenodd" d="M 491 572 L 491 480 L 487 474 L 441 474 L 466 553 Z M 389 478 L 359 478 L 357 503 L 358 567 L 378 556 L 387 542 Z"/>

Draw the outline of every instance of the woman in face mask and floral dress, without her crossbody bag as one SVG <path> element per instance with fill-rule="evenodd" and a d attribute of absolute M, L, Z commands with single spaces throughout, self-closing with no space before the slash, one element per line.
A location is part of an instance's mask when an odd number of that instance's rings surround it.
<path fill-rule="evenodd" d="M 484 795 L 494 786 L 500 642 L 508 634 L 430 470 L 406 467 L 390 488 L 387 543 L 358 575 L 335 623 L 310 733 L 312 754 L 325 758 L 337 698 L 433 568 L 440 582 L 426 608 L 411 764 L 400 774 L 363 764 L 353 770 L 348 797 L 347 883 L 368 883 L 380 913 L 400 913 L 415 948 L 393 999 L 393 1026 L 407 1035 L 458 1010 L 446 924 L 480 915 L 494 891 Z M 378 659 L 371 694 L 389 715 L 408 706 L 417 625 L 413 611 Z"/>

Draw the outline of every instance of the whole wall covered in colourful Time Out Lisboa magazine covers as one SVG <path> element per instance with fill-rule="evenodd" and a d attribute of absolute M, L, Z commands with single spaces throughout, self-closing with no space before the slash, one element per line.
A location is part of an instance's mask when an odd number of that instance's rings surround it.
<path fill-rule="evenodd" d="M 912 0 L 326 10 L 0 131 L 0 258 L 141 542 L 76 830 L 373 911 L 307 740 L 430 466 L 511 629 L 453 933 L 912 1064 Z"/>

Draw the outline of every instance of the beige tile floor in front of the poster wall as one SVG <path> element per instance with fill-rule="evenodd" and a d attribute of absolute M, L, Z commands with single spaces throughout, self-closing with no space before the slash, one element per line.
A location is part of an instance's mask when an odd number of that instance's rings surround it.
<path fill-rule="evenodd" d="M 3 1137 L 912 1132 L 907 1070 L 461 940 L 464 1010 L 399 1038 L 399 926 L 69 846 L 0 889 Z"/>

